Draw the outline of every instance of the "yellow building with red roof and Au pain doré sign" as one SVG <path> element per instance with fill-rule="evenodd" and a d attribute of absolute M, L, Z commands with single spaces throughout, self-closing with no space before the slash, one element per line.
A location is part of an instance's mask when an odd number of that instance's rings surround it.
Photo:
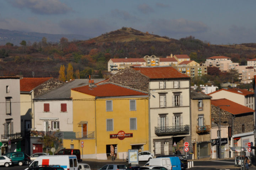
<path fill-rule="evenodd" d="M 111 147 L 118 159 L 126 159 L 128 149 L 149 149 L 148 94 L 106 83 L 72 89 L 71 97 L 73 131 L 81 138 L 63 140 L 63 147 L 74 145 L 82 158 L 96 159 L 107 159 Z"/>

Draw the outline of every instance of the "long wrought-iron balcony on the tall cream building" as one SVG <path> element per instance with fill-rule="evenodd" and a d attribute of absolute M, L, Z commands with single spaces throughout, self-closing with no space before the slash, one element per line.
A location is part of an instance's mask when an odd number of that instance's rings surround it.
<path fill-rule="evenodd" d="M 190 132 L 189 125 L 155 127 L 156 135 L 186 134 Z"/>

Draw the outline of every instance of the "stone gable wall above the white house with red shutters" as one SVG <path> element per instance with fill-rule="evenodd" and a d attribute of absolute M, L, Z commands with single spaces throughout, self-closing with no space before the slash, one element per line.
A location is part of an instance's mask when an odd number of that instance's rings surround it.
<path fill-rule="evenodd" d="M 58 79 L 51 78 L 48 81 L 44 82 L 43 84 L 37 86 L 34 89 L 34 96 L 38 96 L 40 94 L 43 94 L 44 92 L 52 90 L 55 87 L 58 87 L 58 86 L 60 86 L 60 85 L 62 85 L 64 83 L 65 82 L 60 81 Z"/>

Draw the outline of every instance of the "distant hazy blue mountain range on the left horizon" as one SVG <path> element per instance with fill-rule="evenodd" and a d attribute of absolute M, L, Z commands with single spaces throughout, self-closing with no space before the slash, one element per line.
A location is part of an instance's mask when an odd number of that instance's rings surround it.
<path fill-rule="evenodd" d="M 39 42 L 43 37 L 47 38 L 47 42 L 58 42 L 62 37 L 67 38 L 69 41 L 73 40 L 88 40 L 91 37 L 78 34 L 45 34 L 36 32 L 20 32 L 11 31 L 8 29 L 0 29 L 0 45 L 5 45 L 7 42 L 11 42 L 14 45 L 20 45 L 22 40 L 25 40 L 27 44 L 31 42 Z"/>

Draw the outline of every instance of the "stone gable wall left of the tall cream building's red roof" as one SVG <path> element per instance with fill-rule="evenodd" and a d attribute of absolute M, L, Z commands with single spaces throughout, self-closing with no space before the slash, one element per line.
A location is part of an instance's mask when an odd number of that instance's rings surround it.
<path fill-rule="evenodd" d="M 114 74 L 109 80 L 113 83 L 128 86 L 133 89 L 148 91 L 149 78 L 131 68 L 126 68 Z"/>

